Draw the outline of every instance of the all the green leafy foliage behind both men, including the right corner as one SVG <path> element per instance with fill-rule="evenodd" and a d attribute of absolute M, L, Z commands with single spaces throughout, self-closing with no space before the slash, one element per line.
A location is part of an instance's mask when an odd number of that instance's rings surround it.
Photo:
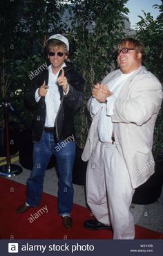
<path fill-rule="evenodd" d="M 101 81 L 111 69 L 117 67 L 114 48 L 125 35 L 126 2 L 1 0 L 0 103 L 7 99 L 25 119 L 31 120 L 23 106 L 23 95 L 30 83 L 29 74 L 46 61 L 44 46 L 47 37 L 53 33 L 63 33 L 71 44 L 70 61 L 86 80 L 84 105 L 75 119 L 77 139 L 80 146 L 84 146 L 90 125 L 86 103 L 93 83 Z M 144 17 L 137 23 L 136 37 L 146 46 L 147 69 L 162 82 L 162 4 L 154 8 L 160 10 L 159 17 L 154 20 L 150 13 L 143 12 Z M 1 114 L 0 125 L 2 120 Z M 155 128 L 155 155 L 163 153 L 162 122 L 163 114 L 160 112 Z"/>

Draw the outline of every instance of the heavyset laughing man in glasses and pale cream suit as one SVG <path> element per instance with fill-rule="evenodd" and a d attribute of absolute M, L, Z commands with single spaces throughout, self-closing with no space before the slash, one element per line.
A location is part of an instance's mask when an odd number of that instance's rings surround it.
<path fill-rule="evenodd" d="M 142 66 L 144 46 L 126 38 L 117 47 L 119 69 L 93 88 L 93 117 L 82 159 L 88 160 L 86 196 L 95 220 L 90 230 L 113 229 L 113 239 L 134 239 L 129 207 L 136 187 L 154 172 L 153 131 L 162 85 Z"/>

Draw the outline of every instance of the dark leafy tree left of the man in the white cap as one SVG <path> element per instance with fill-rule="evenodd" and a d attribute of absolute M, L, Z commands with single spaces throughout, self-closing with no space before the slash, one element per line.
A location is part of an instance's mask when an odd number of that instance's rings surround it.
<path fill-rule="evenodd" d="M 43 67 L 44 45 L 50 33 L 63 33 L 61 12 L 57 1 L 1 1 L 1 94 L 0 101 L 10 101 L 21 111 L 23 94 L 31 82 L 30 74 Z M 55 32 L 54 32 L 55 31 Z M 0 124 L 3 126 L 1 115 Z"/>

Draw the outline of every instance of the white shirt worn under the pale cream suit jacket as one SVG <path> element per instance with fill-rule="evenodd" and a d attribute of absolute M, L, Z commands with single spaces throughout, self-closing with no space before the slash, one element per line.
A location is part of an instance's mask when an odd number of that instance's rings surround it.
<path fill-rule="evenodd" d="M 129 74 L 119 74 L 117 78 L 108 82 L 108 89 L 113 92 L 113 95 L 106 99 L 106 103 L 99 103 L 95 98 L 92 99 L 90 107 L 90 112 L 92 112 L 92 114 L 96 114 L 99 108 L 102 108 L 98 123 L 98 134 L 101 142 L 111 142 L 111 137 L 113 135 L 113 123 L 111 116 L 113 115 L 114 103 L 126 80 L 128 80 L 133 72 Z"/>

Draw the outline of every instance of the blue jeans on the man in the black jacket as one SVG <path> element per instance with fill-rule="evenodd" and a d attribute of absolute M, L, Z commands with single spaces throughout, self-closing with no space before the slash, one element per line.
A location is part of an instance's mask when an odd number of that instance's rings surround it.
<path fill-rule="evenodd" d="M 27 180 L 26 203 L 36 207 L 44 187 L 46 167 L 51 155 L 57 160 L 57 174 L 59 178 L 58 212 L 59 215 L 70 214 L 73 208 L 73 164 L 75 160 L 75 142 L 59 141 L 55 143 L 53 133 L 43 133 L 41 142 L 34 144 L 33 169 Z"/>

